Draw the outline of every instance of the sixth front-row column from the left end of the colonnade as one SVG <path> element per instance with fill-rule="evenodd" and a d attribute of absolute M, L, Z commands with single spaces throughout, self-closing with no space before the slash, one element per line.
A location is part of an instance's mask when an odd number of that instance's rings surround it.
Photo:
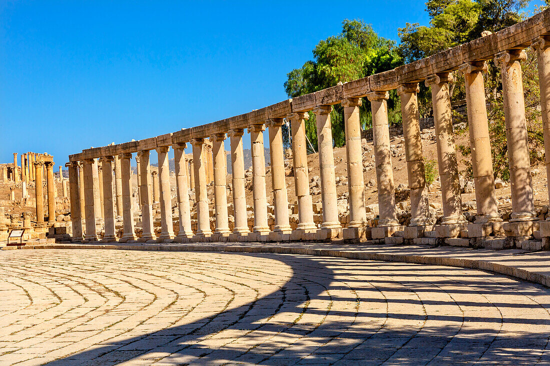
<path fill-rule="evenodd" d="M 174 224 L 172 221 L 172 193 L 170 191 L 170 170 L 168 168 L 168 150 L 170 147 L 157 147 L 158 154 L 158 186 L 160 187 L 161 203 L 161 233 L 159 241 L 174 239 Z"/>

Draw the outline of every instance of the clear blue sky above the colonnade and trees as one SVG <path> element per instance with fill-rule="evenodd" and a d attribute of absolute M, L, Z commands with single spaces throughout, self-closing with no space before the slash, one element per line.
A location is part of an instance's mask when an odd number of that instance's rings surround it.
<path fill-rule="evenodd" d="M 427 24 L 424 2 L 3 0 L 0 162 L 34 151 L 64 164 L 282 101 L 288 71 L 343 19 L 397 40 Z"/>

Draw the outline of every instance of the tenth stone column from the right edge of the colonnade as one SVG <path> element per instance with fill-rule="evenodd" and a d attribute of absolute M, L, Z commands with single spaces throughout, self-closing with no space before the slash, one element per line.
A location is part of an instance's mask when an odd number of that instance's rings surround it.
<path fill-rule="evenodd" d="M 288 214 L 287 182 L 284 173 L 282 118 L 267 121 L 270 134 L 271 182 L 273 185 L 273 204 L 275 207 L 275 225 L 273 232 L 275 240 L 290 239 L 290 220 Z M 287 236 L 282 236 L 287 235 Z M 270 238 L 272 235 L 270 234 Z"/>

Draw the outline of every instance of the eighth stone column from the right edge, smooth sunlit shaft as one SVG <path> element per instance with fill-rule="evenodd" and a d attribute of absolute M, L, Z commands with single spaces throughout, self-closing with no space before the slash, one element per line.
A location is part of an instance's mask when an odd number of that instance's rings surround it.
<path fill-rule="evenodd" d="M 340 225 L 340 220 L 338 219 L 336 175 L 334 173 L 334 153 L 332 151 L 331 112 L 331 106 L 320 106 L 313 109 L 317 123 L 321 201 L 323 204 L 323 223 L 321 224 L 322 230 L 318 231 L 318 239 L 341 237 L 342 232 L 342 225 Z"/>

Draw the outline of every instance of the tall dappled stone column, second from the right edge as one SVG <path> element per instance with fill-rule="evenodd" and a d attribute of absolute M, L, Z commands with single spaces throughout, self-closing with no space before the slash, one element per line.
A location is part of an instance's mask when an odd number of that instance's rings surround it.
<path fill-rule="evenodd" d="M 504 119 L 508 143 L 512 213 L 510 221 L 536 220 L 533 185 L 525 119 L 525 101 L 521 81 L 521 60 L 526 53 L 520 49 L 498 53 L 494 63 L 502 72 Z"/>

